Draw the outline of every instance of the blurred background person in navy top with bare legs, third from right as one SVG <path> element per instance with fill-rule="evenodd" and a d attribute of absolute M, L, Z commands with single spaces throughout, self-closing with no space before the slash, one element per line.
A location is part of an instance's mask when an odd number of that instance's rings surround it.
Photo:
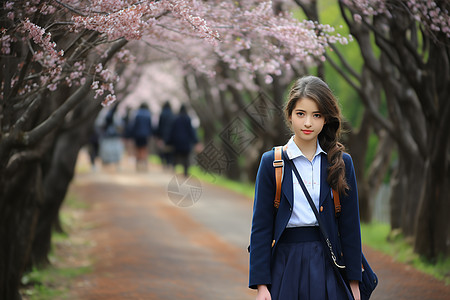
<path fill-rule="evenodd" d="M 152 117 L 147 103 L 142 103 L 134 117 L 132 134 L 136 149 L 136 170 L 148 170 L 148 144 L 153 134 Z"/>

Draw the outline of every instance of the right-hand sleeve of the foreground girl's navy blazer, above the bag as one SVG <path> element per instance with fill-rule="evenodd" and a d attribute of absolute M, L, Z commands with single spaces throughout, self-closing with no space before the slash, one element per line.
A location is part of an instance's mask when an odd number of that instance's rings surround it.
<path fill-rule="evenodd" d="M 361 228 L 359 221 L 358 188 L 356 185 L 355 168 L 349 154 L 343 155 L 345 176 L 349 190 L 347 195 L 341 195 L 342 211 L 339 217 L 341 246 L 346 265 L 348 280 L 361 281 L 362 248 Z"/>

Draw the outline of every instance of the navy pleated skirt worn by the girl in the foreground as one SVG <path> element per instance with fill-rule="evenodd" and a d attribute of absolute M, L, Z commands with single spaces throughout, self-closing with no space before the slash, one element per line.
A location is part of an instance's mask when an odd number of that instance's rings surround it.
<path fill-rule="evenodd" d="M 287 228 L 272 263 L 272 300 L 353 299 L 335 275 L 318 227 Z"/>

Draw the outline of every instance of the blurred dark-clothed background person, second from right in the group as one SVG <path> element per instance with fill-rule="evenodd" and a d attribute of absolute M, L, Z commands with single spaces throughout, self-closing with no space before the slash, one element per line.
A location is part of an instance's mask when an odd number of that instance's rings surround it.
<path fill-rule="evenodd" d="M 164 168 L 170 168 L 174 165 L 174 149 L 169 145 L 169 138 L 174 119 L 175 115 L 172 112 L 170 103 L 169 101 L 166 101 L 162 107 L 159 116 L 158 129 L 156 130 L 158 152 Z"/>

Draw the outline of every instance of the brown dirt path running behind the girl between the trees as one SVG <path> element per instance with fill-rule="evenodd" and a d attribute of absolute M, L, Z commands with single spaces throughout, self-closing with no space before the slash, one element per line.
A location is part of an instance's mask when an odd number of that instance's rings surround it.
<path fill-rule="evenodd" d="M 94 271 L 70 299 L 254 299 L 247 288 L 251 199 L 192 178 L 177 177 L 177 192 L 174 175 L 157 166 L 136 174 L 81 165 L 71 191 L 90 205 L 83 220 Z M 450 299 L 442 282 L 364 251 L 380 277 L 373 299 Z"/>

